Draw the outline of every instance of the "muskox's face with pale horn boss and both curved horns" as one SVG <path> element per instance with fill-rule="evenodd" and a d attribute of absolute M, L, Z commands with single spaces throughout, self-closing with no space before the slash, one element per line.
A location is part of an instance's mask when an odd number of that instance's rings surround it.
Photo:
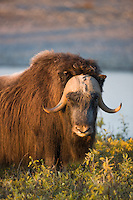
<path fill-rule="evenodd" d="M 93 133 L 98 106 L 107 113 L 116 113 L 122 106 L 120 104 L 116 109 L 107 107 L 98 81 L 89 75 L 77 75 L 67 82 L 60 102 L 54 108 L 43 109 L 47 113 L 58 112 L 71 101 L 74 105 L 71 106 L 72 131 L 80 137 Z"/>

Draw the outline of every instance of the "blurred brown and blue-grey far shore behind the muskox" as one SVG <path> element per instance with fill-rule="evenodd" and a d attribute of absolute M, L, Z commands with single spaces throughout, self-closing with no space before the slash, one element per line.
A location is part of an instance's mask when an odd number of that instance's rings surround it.
<path fill-rule="evenodd" d="M 96 59 L 133 71 L 133 1 L 0 2 L 0 66 L 28 66 L 41 50 Z"/>

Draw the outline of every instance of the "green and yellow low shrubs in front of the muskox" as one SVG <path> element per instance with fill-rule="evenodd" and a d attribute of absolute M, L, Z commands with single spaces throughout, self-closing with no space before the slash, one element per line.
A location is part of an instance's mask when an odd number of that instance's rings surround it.
<path fill-rule="evenodd" d="M 30 157 L 30 170 L 20 166 L 1 170 L 0 199 L 133 199 L 133 139 L 127 138 L 123 118 L 116 136 L 104 126 L 100 118 L 95 148 L 80 165 L 57 172 Z"/>

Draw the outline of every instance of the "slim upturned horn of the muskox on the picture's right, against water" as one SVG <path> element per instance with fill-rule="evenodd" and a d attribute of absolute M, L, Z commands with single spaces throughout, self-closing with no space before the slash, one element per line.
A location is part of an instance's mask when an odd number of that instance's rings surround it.
<path fill-rule="evenodd" d="M 100 107 L 103 111 L 105 111 L 105 112 L 107 112 L 107 113 L 116 113 L 116 112 L 118 112 L 118 111 L 121 109 L 122 103 L 120 104 L 120 106 L 118 106 L 118 107 L 115 108 L 115 109 L 108 108 L 108 107 L 105 105 L 105 103 L 103 102 L 102 96 L 100 95 L 100 97 L 99 97 L 99 107 Z"/>

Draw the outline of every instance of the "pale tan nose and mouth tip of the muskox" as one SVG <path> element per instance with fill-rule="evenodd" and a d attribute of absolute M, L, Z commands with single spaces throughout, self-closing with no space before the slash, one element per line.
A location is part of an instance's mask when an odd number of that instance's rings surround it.
<path fill-rule="evenodd" d="M 87 125 L 75 125 L 73 127 L 73 132 L 76 133 L 80 137 L 84 137 L 87 135 L 91 135 L 93 132 L 92 127 Z"/>

